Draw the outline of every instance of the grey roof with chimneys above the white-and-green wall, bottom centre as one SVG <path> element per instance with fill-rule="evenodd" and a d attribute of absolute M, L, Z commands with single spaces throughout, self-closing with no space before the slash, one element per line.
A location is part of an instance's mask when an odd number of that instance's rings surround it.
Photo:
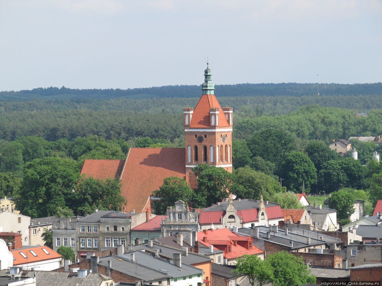
<path fill-rule="evenodd" d="M 184 260 L 183 260 L 184 256 L 181 259 L 182 260 L 181 267 L 178 267 L 172 263 L 169 263 L 169 261 L 167 260 L 154 257 L 154 255 L 148 254 L 143 251 L 136 251 L 132 253 L 135 253 L 136 263 L 141 265 L 146 265 L 147 268 L 155 269 L 157 272 L 163 273 L 172 278 L 204 273 L 204 271 L 201 270 L 200 268 L 196 268 L 194 266 L 184 263 Z M 119 255 L 119 257 L 123 257 L 125 259 L 130 260 L 131 254 L 130 253 L 123 254 L 123 255 Z M 129 261 L 129 263 L 131 264 L 131 260 Z M 133 264 L 135 265 L 135 262 L 133 262 Z"/>

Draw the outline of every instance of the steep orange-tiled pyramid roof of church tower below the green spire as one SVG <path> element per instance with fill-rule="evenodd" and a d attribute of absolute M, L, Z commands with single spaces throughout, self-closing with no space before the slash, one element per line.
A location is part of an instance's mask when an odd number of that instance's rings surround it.
<path fill-rule="evenodd" d="M 215 95 L 213 94 L 208 94 L 208 95 L 204 94 L 201 96 L 192 114 L 190 127 L 191 128 L 211 127 L 210 108 L 212 107 L 219 108 L 219 127 L 229 127 L 230 125 L 228 124 L 227 119 L 225 118 L 223 108 L 220 106 Z"/>

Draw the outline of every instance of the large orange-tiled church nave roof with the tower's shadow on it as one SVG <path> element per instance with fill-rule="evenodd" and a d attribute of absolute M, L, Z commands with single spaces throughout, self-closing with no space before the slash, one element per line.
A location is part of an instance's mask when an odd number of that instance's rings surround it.
<path fill-rule="evenodd" d="M 184 148 L 131 148 L 121 175 L 125 211 L 146 210 L 167 177 L 186 178 Z"/>

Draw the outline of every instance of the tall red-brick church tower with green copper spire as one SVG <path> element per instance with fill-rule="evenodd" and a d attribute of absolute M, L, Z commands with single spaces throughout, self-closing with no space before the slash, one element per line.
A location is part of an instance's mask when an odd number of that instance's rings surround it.
<path fill-rule="evenodd" d="M 192 107 L 183 109 L 186 176 L 191 188 L 196 184 L 191 169 L 197 164 L 222 167 L 232 172 L 232 107 L 222 108 L 217 101 L 208 65 L 209 63 L 204 70 L 202 96 L 199 102 L 195 109 Z"/>

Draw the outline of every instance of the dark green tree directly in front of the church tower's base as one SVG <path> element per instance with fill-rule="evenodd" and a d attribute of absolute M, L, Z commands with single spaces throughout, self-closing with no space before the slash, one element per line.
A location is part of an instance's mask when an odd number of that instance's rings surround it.
<path fill-rule="evenodd" d="M 195 189 L 194 202 L 197 207 L 208 207 L 227 198 L 232 185 L 232 174 L 223 168 L 198 165 L 192 170 L 197 173 L 203 167 L 205 169 L 200 172 Z"/>

